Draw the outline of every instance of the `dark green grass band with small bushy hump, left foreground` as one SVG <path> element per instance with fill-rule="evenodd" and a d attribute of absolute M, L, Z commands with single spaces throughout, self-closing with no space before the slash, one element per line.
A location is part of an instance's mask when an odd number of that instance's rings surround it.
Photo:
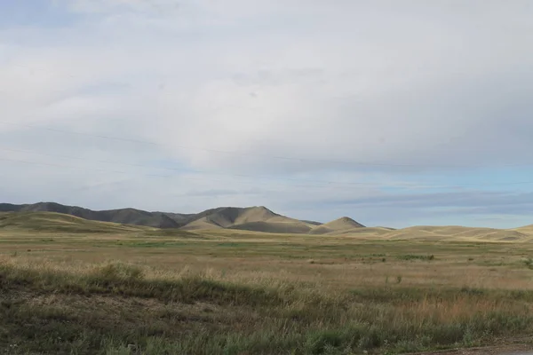
<path fill-rule="evenodd" d="M 24 286 L 36 292 L 75 293 L 155 298 L 163 302 L 191 303 L 198 300 L 215 304 L 279 304 L 282 300 L 266 289 L 205 280 L 199 276 L 169 280 L 143 280 L 139 267 L 107 264 L 83 275 L 0 268 L 0 287 Z"/>

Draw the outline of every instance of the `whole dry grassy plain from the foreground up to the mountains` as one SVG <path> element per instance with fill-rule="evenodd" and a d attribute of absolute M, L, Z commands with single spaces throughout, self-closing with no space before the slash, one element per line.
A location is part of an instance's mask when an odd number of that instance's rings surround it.
<path fill-rule="evenodd" d="M 0 215 L 0 353 L 392 354 L 527 343 L 529 234 L 494 241 L 435 230 L 404 239 L 379 228 L 185 232 Z"/>

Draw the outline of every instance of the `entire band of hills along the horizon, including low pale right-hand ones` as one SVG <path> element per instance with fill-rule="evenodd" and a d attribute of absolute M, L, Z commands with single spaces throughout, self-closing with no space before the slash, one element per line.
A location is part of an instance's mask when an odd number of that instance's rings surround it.
<path fill-rule="evenodd" d="M 142 233 L 194 236 L 200 230 L 292 233 L 403 241 L 533 241 L 533 225 L 513 229 L 418 225 L 403 229 L 365 227 L 349 217 L 324 225 L 274 213 L 263 206 L 220 207 L 197 214 L 147 212 L 139 209 L 92 211 L 58 203 L 0 204 L 0 229 L 65 233 Z"/>

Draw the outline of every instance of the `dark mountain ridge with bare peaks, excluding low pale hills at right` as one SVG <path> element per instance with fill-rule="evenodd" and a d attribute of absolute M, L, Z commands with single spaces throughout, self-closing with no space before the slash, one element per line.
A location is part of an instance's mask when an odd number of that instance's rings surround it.
<path fill-rule="evenodd" d="M 207 209 L 200 213 L 183 214 L 148 212 L 140 209 L 95 211 L 76 206 L 65 206 L 55 202 L 39 202 L 22 205 L 0 203 L 0 212 L 56 212 L 92 221 L 113 222 L 121 225 L 143 225 L 162 229 L 174 228 L 184 231 L 236 229 L 267 233 L 328 234 L 364 227 L 349 217 L 341 217 L 330 223 L 322 224 L 282 216 L 263 206 L 219 207 Z"/>

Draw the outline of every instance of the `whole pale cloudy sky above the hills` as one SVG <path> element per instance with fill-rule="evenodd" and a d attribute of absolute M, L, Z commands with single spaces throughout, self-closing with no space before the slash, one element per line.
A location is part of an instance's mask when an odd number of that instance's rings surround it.
<path fill-rule="evenodd" d="M 0 0 L 0 201 L 533 224 L 529 0 Z"/>

